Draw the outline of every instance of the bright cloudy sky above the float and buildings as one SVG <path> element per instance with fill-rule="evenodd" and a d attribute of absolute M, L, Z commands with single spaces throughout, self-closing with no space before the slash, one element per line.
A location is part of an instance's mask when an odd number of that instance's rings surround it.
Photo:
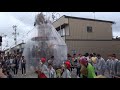
<path fill-rule="evenodd" d="M 36 14 L 38 12 L 0 12 L 0 35 L 7 35 L 3 37 L 2 49 L 14 45 L 13 25 L 17 25 L 17 32 L 19 33 L 17 36 L 18 43 L 27 39 L 27 33 L 34 29 L 33 24 Z M 48 17 L 52 16 L 52 12 L 44 12 L 44 14 Z M 94 18 L 93 12 L 56 12 L 57 17 L 62 15 Z M 120 12 L 95 12 L 95 18 L 116 22 L 113 25 L 113 36 L 120 36 Z"/>

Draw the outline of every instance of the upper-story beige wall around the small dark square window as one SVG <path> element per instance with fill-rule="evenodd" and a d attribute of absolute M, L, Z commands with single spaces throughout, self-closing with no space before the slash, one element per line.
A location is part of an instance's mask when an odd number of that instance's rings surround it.
<path fill-rule="evenodd" d="M 92 26 L 93 32 L 87 32 Z M 112 23 L 69 18 L 70 36 L 66 39 L 112 39 Z"/>

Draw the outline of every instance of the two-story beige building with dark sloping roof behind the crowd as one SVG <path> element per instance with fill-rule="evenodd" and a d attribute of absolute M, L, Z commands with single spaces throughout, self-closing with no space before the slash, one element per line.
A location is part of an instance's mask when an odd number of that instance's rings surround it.
<path fill-rule="evenodd" d="M 65 40 L 68 53 L 99 53 L 120 58 L 120 39 L 113 39 L 112 21 L 62 16 L 53 26 Z"/>

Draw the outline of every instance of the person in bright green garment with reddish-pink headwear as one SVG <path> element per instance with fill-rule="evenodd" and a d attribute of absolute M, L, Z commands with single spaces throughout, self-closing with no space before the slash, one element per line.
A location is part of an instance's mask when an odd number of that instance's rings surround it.
<path fill-rule="evenodd" d="M 86 58 L 80 59 L 81 64 L 81 77 L 82 78 L 94 78 L 96 77 L 94 67 L 87 61 Z"/>

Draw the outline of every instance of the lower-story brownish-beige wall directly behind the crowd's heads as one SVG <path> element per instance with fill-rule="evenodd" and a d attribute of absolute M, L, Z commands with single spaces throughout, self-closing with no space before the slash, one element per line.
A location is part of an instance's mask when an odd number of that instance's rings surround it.
<path fill-rule="evenodd" d="M 104 58 L 108 54 L 117 54 L 120 59 L 120 41 L 66 41 L 68 46 L 68 53 L 72 54 L 72 50 L 78 53 L 99 53 Z"/>

